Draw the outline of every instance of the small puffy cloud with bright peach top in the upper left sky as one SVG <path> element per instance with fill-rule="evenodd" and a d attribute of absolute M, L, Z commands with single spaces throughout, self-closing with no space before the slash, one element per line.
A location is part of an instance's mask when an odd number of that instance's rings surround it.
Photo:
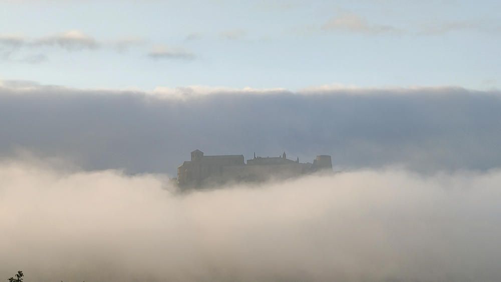
<path fill-rule="evenodd" d="M 99 43 L 91 36 L 80 31 L 68 31 L 45 38 L 38 39 L 34 45 L 59 46 L 68 51 L 97 49 Z"/>

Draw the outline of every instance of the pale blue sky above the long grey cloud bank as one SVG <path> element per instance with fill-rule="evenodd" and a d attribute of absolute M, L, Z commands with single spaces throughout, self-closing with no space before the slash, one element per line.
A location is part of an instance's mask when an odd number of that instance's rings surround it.
<path fill-rule="evenodd" d="M 499 11 L 454 0 L 0 0 L 0 80 L 498 89 Z"/>

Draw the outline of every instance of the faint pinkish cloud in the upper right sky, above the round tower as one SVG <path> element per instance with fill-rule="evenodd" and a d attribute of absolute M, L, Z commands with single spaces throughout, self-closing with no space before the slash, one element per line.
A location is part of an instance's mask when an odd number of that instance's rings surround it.
<path fill-rule="evenodd" d="M 322 26 L 324 31 L 342 31 L 360 34 L 400 34 L 403 31 L 386 25 L 371 25 L 355 14 L 343 14 L 334 17 Z"/>

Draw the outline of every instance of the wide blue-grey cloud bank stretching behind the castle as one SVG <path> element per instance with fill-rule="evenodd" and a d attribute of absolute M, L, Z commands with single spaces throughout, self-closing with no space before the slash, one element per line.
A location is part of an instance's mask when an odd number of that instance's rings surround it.
<path fill-rule="evenodd" d="M 304 161 L 329 154 L 339 170 L 401 165 L 426 173 L 501 166 L 498 91 L 178 91 L 4 86 L 0 157 L 28 150 L 70 159 L 86 170 L 170 175 L 197 148 L 245 157 L 285 150 Z"/>

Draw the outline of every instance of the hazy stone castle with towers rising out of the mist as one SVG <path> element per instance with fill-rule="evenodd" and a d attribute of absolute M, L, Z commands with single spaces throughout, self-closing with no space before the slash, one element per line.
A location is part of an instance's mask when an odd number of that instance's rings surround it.
<path fill-rule="evenodd" d="M 200 186 L 219 184 L 228 181 L 256 182 L 271 178 L 290 178 L 320 170 L 332 172 L 331 156 L 319 155 L 313 163 L 300 163 L 287 158 L 284 152 L 280 157 L 256 157 L 245 163 L 243 155 L 205 156 L 202 151 L 191 152 L 191 160 L 184 161 L 177 168 L 179 186 Z"/>

